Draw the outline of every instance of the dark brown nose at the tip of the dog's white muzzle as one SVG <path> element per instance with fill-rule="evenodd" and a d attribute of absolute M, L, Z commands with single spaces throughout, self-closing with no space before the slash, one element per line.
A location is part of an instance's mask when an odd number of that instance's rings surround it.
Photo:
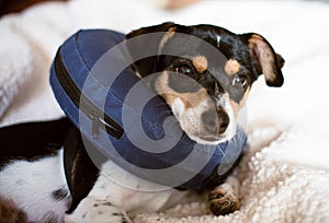
<path fill-rule="evenodd" d="M 229 124 L 229 117 L 223 109 L 204 111 L 202 120 L 207 131 L 219 134 L 225 132 Z"/>

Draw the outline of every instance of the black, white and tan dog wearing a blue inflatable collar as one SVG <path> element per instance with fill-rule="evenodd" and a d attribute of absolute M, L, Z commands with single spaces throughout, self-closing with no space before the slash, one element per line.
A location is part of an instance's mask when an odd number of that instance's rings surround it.
<path fill-rule="evenodd" d="M 238 35 L 213 25 L 167 22 L 133 31 L 125 40 L 154 33 L 159 35 L 128 45 L 133 59 L 140 50 L 150 55 L 136 60 L 132 69 L 139 78 L 158 73 L 149 86 L 166 101 L 183 131 L 198 143 L 216 144 L 234 137 L 237 115 L 259 75 L 264 75 L 269 86 L 283 84 L 284 59 L 259 34 Z M 214 54 L 205 50 L 209 46 Z M 172 51 L 174 55 L 169 54 Z M 131 222 L 129 218 L 138 213 L 159 211 L 172 197 L 189 193 L 174 188 L 139 191 L 138 185 L 145 181 L 110 160 L 97 168 L 79 130 L 67 118 L 4 127 L 0 137 L 5 148 L 0 157 L 0 198 L 14 202 L 32 222 Z M 68 149 L 73 151 L 72 163 L 63 160 Z M 105 175 L 126 178 L 131 187 L 122 187 Z M 212 213 L 238 210 L 238 190 L 234 175 L 213 188 Z"/>

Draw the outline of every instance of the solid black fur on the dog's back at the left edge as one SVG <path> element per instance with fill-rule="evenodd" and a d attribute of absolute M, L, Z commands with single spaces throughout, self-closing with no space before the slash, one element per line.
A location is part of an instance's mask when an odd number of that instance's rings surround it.
<path fill-rule="evenodd" d="M 13 160 L 36 161 L 56 155 L 72 126 L 68 118 L 0 128 L 0 169 Z"/>

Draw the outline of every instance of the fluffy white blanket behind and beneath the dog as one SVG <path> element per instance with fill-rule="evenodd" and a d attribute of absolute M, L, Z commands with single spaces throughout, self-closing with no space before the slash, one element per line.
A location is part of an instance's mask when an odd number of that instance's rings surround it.
<path fill-rule="evenodd" d="M 239 166 L 240 211 L 215 218 L 203 201 L 135 222 L 329 222 L 329 4 L 203 1 L 163 11 L 147 1 L 45 3 L 0 20 L 1 126 L 63 115 L 48 86 L 57 47 L 79 28 L 128 32 L 174 21 L 257 32 L 286 60 L 285 84 L 259 80 L 248 101 L 249 150 Z M 14 136 L 13 136 L 14 138 Z"/>

